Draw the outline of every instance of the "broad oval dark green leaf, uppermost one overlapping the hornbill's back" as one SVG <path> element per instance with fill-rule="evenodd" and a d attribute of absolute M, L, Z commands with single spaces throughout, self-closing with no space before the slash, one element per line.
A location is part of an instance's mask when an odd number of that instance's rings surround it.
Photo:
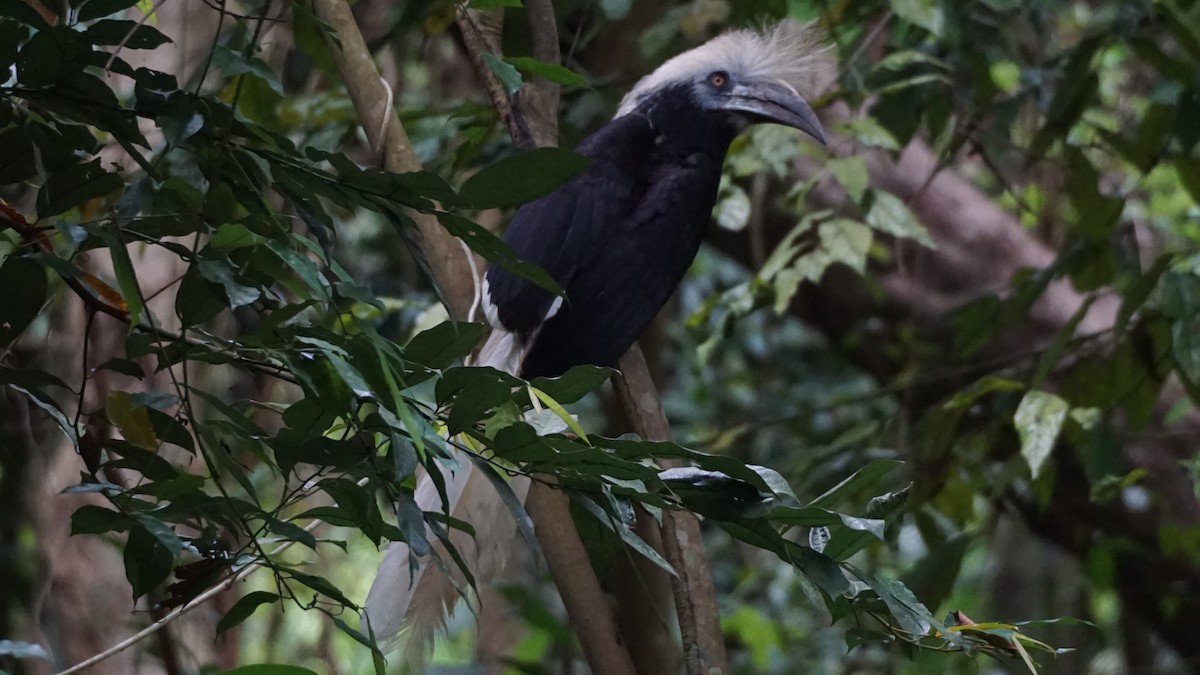
<path fill-rule="evenodd" d="M 590 160 L 562 148 L 538 148 L 484 167 L 458 196 L 476 209 L 515 207 L 548 195 L 583 173 Z"/>

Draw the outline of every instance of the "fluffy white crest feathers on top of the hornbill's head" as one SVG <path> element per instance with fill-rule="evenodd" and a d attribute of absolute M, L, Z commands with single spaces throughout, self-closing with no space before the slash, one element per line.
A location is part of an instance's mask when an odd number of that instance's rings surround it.
<path fill-rule="evenodd" d="M 812 24 L 784 20 L 774 26 L 724 32 L 667 60 L 643 77 L 620 101 L 617 117 L 634 110 L 650 91 L 676 82 L 726 71 L 740 78 L 773 78 L 798 92 L 811 88 L 823 58 L 822 38 Z"/>

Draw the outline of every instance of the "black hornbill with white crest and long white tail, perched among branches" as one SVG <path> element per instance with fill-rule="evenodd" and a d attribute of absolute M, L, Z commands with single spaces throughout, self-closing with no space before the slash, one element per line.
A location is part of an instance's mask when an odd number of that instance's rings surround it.
<path fill-rule="evenodd" d="M 811 31 L 785 22 L 722 34 L 640 80 L 612 121 L 576 148 L 589 167 L 524 204 L 505 234 L 565 298 L 491 268 L 482 304 L 492 334 L 476 365 L 524 378 L 578 364 L 616 365 L 695 258 L 733 138 L 752 124 L 775 123 L 824 143 L 799 94 L 816 54 Z M 416 501 L 474 525 L 474 539 L 456 531 L 451 540 L 475 580 L 486 583 L 503 566 L 516 526 L 469 461 L 443 474 L 449 508 L 430 479 Z M 512 482 L 518 497 L 527 486 L 526 479 Z M 427 557 L 410 563 L 408 548 L 394 544 L 367 597 L 372 629 L 390 638 L 407 623 L 410 645 L 426 647 L 456 601 L 455 585 Z"/>

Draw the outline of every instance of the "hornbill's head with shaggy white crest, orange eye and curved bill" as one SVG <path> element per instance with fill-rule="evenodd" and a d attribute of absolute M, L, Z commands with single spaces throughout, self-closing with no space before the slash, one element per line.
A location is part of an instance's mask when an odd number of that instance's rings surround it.
<path fill-rule="evenodd" d="M 617 117 L 638 109 L 655 92 L 685 85 L 706 109 L 728 112 L 743 124 L 792 126 L 824 143 L 821 124 L 800 94 L 822 53 L 818 31 L 797 22 L 732 30 L 643 77 L 622 100 Z"/>

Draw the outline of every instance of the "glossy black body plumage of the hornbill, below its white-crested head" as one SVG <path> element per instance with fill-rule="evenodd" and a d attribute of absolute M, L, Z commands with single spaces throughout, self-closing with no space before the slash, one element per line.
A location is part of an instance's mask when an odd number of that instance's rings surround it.
<path fill-rule="evenodd" d="M 592 160 L 587 171 L 517 211 L 505 243 L 566 295 L 559 304 L 488 270 L 497 328 L 526 346 L 522 377 L 616 365 L 695 258 L 738 131 L 734 118 L 698 106 L 689 85 L 655 91 L 576 148 Z"/>

